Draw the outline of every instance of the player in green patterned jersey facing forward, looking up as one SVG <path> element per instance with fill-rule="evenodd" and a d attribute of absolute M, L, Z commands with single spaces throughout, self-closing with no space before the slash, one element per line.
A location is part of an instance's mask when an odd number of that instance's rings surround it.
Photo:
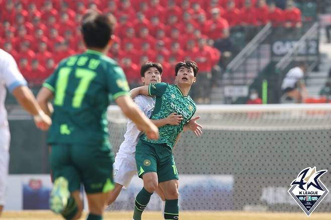
<path fill-rule="evenodd" d="M 183 117 L 178 125 L 159 127 L 158 140 L 140 136 L 135 159 L 138 175 L 143 179 L 144 186 L 135 200 L 134 220 L 141 220 L 141 214 L 158 185 L 165 194 L 164 218 L 179 218 L 178 172 L 172 150 L 184 125 L 196 111 L 195 102 L 188 94 L 196 81 L 197 72 L 198 66 L 194 61 L 179 62 L 175 67 L 176 85 L 156 83 L 130 91 L 132 97 L 138 94 L 156 97 L 151 119 L 164 118 L 173 112 Z"/>

